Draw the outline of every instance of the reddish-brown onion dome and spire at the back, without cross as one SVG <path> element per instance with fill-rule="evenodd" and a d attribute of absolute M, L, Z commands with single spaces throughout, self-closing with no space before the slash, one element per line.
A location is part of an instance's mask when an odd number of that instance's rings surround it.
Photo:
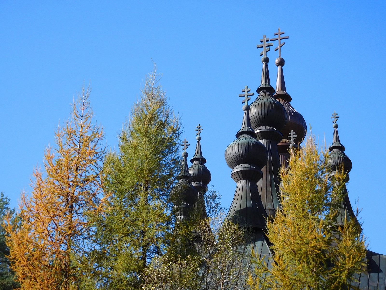
<path fill-rule="evenodd" d="M 273 96 L 283 105 L 287 113 L 287 123 L 280 130 L 283 135 L 283 141 L 289 143 L 288 134 L 293 130 L 296 132 L 295 144 L 299 144 L 303 141 L 307 132 L 306 122 L 301 114 L 296 111 L 290 104 L 292 98 L 286 91 L 286 84 L 284 82 L 283 66 L 285 64 L 284 58 L 276 58 L 275 64 L 278 67 L 278 77 L 276 78 L 276 92 Z M 289 145 L 289 144 L 288 144 Z"/>

